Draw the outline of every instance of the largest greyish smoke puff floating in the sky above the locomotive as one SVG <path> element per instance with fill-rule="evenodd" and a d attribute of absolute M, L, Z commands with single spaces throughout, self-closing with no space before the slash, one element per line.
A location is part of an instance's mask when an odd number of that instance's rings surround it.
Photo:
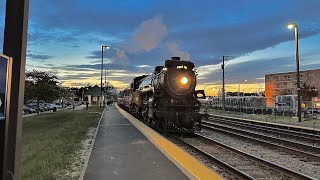
<path fill-rule="evenodd" d="M 130 53 L 150 51 L 167 36 L 167 27 L 160 16 L 143 21 L 129 41 Z"/>

